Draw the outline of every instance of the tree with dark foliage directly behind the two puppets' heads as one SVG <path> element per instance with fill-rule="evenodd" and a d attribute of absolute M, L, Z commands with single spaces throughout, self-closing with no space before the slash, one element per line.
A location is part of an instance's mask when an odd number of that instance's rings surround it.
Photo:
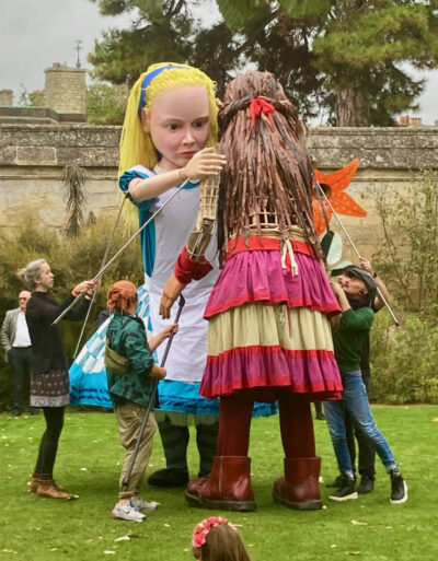
<path fill-rule="evenodd" d="M 95 43 L 89 61 L 94 77 L 131 85 L 152 62 L 186 61 L 201 68 L 218 84 L 221 95 L 227 82 L 252 63 L 272 70 L 296 100 L 304 116 L 312 116 L 324 96 L 321 75 L 311 65 L 308 34 L 302 25 L 286 21 L 285 12 L 272 21 L 266 2 L 254 7 L 244 28 L 232 30 L 224 22 L 203 27 L 199 9 L 210 2 L 145 0 L 102 0 L 103 14 L 130 11 L 131 30 L 111 30 Z"/>

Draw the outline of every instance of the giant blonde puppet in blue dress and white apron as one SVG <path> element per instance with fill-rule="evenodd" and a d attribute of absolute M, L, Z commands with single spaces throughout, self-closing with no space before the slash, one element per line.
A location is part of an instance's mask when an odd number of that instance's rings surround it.
<path fill-rule="evenodd" d="M 119 187 L 137 207 L 140 226 L 186 182 L 177 196 L 141 232 L 152 334 L 162 289 L 192 230 L 199 207 L 199 182 L 217 176 L 224 157 L 216 153 L 217 105 L 214 82 L 200 70 L 180 63 L 152 65 L 134 84 L 120 140 Z M 203 312 L 218 273 L 214 244 L 207 248 L 211 274 L 184 291 L 185 306 L 159 384 L 160 430 L 166 468 L 151 484 L 173 487 L 188 480 L 188 424 L 196 426 L 199 474 L 207 475 L 215 455 L 218 402 L 199 396 L 206 363 L 207 322 Z M 158 349 L 161 362 L 163 349 Z"/>

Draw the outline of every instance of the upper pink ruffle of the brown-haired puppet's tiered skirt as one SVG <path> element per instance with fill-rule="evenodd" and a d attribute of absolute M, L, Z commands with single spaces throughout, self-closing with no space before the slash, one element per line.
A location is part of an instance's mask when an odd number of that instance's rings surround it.
<path fill-rule="evenodd" d="M 210 293 L 205 318 L 245 303 L 309 307 L 325 315 L 341 312 L 326 274 L 314 257 L 295 252 L 298 274 L 281 268 L 278 250 L 241 252 L 223 267 Z"/>

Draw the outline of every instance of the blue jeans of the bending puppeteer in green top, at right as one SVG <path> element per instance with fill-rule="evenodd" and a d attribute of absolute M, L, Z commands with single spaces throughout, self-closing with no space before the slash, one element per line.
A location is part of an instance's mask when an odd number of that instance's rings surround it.
<path fill-rule="evenodd" d="M 395 458 L 387 439 L 379 431 L 368 401 L 367 389 L 360 376 L 360 371 L 343 375 L 344 391 L 339 401 L 324 401 L 324 413 L 328 424 L 337 465 L 342 474 L 353 477 L 351 459 L 348 452 L 345 411 L 349 413 L 355 424 L 376 445 L 376 452 L 387 471 L 396 468 Z"/>

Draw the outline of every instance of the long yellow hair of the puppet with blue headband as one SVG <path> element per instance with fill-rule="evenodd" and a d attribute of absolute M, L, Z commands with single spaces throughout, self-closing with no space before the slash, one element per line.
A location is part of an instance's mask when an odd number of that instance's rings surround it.
<path fill-rule="evenodd" d="M 217 142 L 218 108 L 215 97 L 215 82 L 203 71 L 188 65 L 178 62 L 160 62 L 151 65 L 134 84 L 126 107 L 125 121 L 120 138 L 120 161 L 118 166 L 118 176 L 123 175 L 130 167 L 141 164 L 148 170 L 153 170 L 158 163 L 157 150 L 153 147 L 151 136 L 143 131 L 142 122 L 139 117 L 139 103 L 141 97 L 141 84 L 145 77 L 154 70 L 172 66 L 158 73 L 147 85 L 145 92 L 143 108 L 150 109 L 153 101 L 168 90 L 183 87 L 201 86 L 206 90 L 209 102 L 209 137 L 207 147 L 214 147 Z"/>

